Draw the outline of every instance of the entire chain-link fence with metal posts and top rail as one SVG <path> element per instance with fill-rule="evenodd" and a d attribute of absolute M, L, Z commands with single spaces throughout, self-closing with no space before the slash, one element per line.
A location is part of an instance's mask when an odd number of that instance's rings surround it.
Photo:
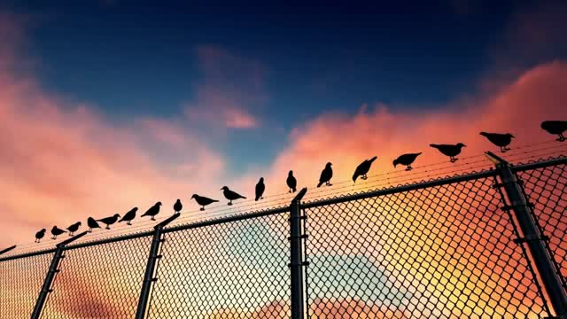
<path fill-rule="evenodd" d="M 487 171 L 0 258 L 0 317 L 565 317 L 567 159 L 490 155 Z"/>

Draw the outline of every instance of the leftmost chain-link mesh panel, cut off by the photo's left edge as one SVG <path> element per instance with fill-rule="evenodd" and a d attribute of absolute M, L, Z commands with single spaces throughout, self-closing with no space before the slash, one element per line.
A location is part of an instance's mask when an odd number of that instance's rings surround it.
<path fill-rule="evenodd" d="M 0 318 L 29 318 L 53 253 L 0 262 Z"/>

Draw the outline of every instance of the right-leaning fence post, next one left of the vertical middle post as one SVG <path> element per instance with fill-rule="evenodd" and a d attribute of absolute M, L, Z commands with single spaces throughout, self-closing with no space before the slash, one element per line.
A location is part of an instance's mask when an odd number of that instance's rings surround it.
<path fill-rule="evenodd" d="M 159 255 L 159 246 L 165 241 L 165 239 L 161 238 L 162 230 L 168 223 L 173 222 L 175 218 L 179 217 L 179 215 L 180 214 L 174 214 L 167 218 L 167 220 L 159 222 L 159 224 L 153 228 L 154 231 L 151 239 L 150 256 L 148 257 L 148 263 L 145 267 L 144 282 L 142 283 L 142 290 L 140 291 L 140 298 L 138 299 L 138 307 L 136 309 L 136 319 L 144 319 L 148 300 L 150 298 L 151 283 L 158 280 L 154 273 L 157 260 L 161 258 L 161 255 Z"/>

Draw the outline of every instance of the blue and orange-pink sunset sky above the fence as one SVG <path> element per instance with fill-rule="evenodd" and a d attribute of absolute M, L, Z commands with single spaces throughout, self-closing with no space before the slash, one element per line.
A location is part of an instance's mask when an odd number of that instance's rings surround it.
<path fill-rule="evenodd" d="M 193 193 L 225 206 L 260 176 L 279 194 L 290 169 L 313 187 L 328 161 L 344 181 L 374 155 L 373 174 L 446 160 L 430 143 L 495 151 L 481 130 L 551 140 L 567 4 L 493 3 L 3 1 L 0 248 Z"/>

